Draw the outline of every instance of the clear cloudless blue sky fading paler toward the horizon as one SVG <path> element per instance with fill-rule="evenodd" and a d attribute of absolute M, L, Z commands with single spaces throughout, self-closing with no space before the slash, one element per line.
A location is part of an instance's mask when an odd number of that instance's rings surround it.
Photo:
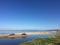
<path fill-rule="evenodd" d="M 60 29 L 59 0 L 0 0 L 0 30 Z"/>

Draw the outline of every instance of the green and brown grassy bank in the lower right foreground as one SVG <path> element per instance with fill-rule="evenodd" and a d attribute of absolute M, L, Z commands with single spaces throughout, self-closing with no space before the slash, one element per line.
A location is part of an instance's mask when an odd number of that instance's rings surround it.
<path fill-rule="evenodd" d="M 30 42 L 24 42 L 20 45 L 59 45 L 60 36 L 54 36 L 49 38 L 37 38 Z"/>

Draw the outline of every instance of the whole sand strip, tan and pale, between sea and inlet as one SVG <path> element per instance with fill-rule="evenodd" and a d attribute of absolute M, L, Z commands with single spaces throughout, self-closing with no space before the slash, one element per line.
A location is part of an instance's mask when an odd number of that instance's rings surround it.
<path fill-rule="evenodd" d="M 22 35 L 23 33 L 15 33 L 11 34 L 0 34 L 0 38 L 12 38 L 12 37 L 26 37 L 27 35 L 33 34 L 51 34 L 51 32 L 25 32 L 26 35 Z"/>

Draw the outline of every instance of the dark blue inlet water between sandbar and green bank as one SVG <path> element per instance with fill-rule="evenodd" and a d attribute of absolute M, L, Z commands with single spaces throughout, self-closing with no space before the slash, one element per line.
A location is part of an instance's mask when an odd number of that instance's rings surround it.
<path fill-rule="evenodd" d="M 28 35 L 26 38 L 3 38 L 0 39 L 0 45 L 18 45 L 26 41 L 33 40 L 37 37 L 48 37 L 52 35 Z"/>

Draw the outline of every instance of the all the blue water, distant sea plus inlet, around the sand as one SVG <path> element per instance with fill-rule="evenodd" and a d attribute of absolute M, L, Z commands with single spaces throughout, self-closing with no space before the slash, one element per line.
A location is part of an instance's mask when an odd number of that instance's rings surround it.
<path fill-rule="evenodd" d="M 0 30 L 0 34 L 25 33 L 25 32 L 45 32 L 49 30 Z M 31 34 L 25 38 L 0 38 L 0 45 L 19 45 L 24 42 L 34 40 L 36 38 L 47 38 L 56 35 L 55 31 L 50 31 L 52 34 Z"/>

